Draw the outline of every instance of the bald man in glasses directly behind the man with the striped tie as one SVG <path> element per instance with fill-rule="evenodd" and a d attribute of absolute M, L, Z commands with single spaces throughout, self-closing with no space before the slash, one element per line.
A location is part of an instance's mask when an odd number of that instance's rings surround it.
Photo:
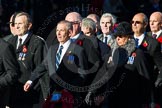
<path fill-rule="evenodd" d="M 97 48 L 95 48 L 95 43 L 88 39 L 82 32 L 81 32 L 81 22 L 82 17 L 77 12 L 70 12 L 66 15 L 65 20 L 69 21 L 73 25 L 73 33 L 70 37 L 70 39 L 76 43 L 80 44 L 82 48 L 85 50 L 85 54 L 87 56 L 88 60 L 88 70 L 89 73 L 87 75 L 87 78 L 85 80 L 86 86 L 90 85 L 93 78 L 96 75 L 96 72 L 98 71 L 101 63 L 101 55 Z M 83 101 L 83 100 L 82 100 Z"/>

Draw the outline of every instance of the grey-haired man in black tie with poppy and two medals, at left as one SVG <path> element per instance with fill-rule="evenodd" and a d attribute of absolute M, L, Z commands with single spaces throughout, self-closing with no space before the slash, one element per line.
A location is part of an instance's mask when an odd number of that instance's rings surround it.
<path fill-rule="evenodd" d="M 23 91 L 23 85 L 29 79 L 31 72 L 43 60 L 45 41 L 31 31 L 32 19 L 26 12 L 17 13 L 14 21 L 17 36 L 11 37 L 8 42 L 13 45 L 20 75 L 11 91 L 11 108 L 38 108 L 40 89 Z M 42 81 L 43 82 L 43 81 Z M 38 91 L 37 91 L 38 90 Z"/>

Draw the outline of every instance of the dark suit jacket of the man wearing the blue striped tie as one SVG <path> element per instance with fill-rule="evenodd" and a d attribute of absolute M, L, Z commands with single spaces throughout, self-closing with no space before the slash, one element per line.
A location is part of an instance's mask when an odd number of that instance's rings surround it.
<path fill-rule="evenodd" d="M 59 45 L 52 45 L 49 50 L 46 58 L 33 72 L 30 77 L 30 80 L 34 82 L 37 81 L 43 74 L 48 71 L 50 82 L 45 86 L 46 89 L 44 92 L 49 93 L 54 90 L 67 89 L 69 91 L 77 92 L 78 87 L 84 86 L 85 83 L 85 72 L 84 70 L 88 69 L 87 57 L 85 55 L 85 50 L 71 43 L 68 47 L 63 59 L 59 65 L 59 68 L 55 68 L 55 57 Z M 74 59 L 70 59 L 74 57 Z M 50 84 L 50 85 L 49 85 Z"/>

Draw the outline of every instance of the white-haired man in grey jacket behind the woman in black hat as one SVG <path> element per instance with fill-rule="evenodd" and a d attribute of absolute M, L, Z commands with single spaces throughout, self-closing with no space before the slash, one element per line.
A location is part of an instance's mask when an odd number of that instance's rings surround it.
<path fill-rule="evenodd" d="M 100 26 L 102 34 L 98 38 L 111 47 L 111 38 L 113 33 L 113 26 L 116 23 L 116 17 L 110 13 L 104 13 L 100 19 Z"/>

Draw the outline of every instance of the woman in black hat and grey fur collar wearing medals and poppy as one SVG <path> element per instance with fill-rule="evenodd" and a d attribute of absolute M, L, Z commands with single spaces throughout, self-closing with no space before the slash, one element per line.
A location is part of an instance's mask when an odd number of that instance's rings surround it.
<path fill-rule="evenodd" d="M 94 80 L 95 82 L 100 78 L 105 81 L 104 78 L 107 78 L 107 82 L 99 89 L 89 92 L 92 96 L 95 94 L 96 97 L 104 97 L 104 102 L 99 103 L 95 100 L 96 105 L 102 106 L 101 103 L 103 103 L 103 106 L 108 108 L 141 108 L 143 106 L 140 91 L 143 86 L 140 82 L 147 82 L 149 79 L 148 64 L 143 51 L 136 48 L 132 34 L 131 25 L 128 22 L 119 23 L 113 34 L 115 39 L 111 46 L 112 50 L 98 72 L 102 77 L 98 75 Z"/>

